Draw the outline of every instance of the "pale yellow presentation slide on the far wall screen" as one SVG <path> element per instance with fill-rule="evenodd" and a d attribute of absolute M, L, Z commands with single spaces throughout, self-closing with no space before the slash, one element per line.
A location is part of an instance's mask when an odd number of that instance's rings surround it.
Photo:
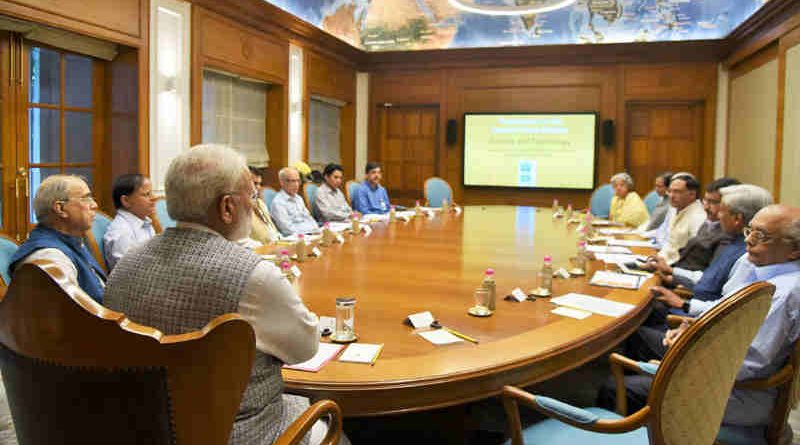
<path fill-rule="evenodd" d="M 464 185 L 592 189 L 594 113 L 464 115 Z"/>

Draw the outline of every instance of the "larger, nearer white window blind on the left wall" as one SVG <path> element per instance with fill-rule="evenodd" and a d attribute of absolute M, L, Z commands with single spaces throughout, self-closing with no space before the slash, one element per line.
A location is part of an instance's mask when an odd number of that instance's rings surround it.
<path fill-rule="evenodd" d="M 268 88 L 266 83 L 203 70 L 203 142 L 233 147 L 248 165 L 269 166 Z"/>

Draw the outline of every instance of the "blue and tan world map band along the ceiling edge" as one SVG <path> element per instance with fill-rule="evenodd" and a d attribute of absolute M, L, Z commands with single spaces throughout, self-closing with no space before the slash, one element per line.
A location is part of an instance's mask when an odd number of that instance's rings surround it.
<path fill-rule="evenodd" d="M 265 0 L 366 51 L 721 39 L 768 0 L 577 0 L 496 16 L 454 3 L 519 8 L 553 0 Z"/>

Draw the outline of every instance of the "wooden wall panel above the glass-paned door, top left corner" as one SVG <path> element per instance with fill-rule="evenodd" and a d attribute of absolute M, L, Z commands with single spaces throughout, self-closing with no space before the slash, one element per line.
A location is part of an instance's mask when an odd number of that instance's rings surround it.
<path fill-rule="evenodd" d="M 127 45 L 146 33 L 146 0 L 2 0 L 0 14 Z"/>

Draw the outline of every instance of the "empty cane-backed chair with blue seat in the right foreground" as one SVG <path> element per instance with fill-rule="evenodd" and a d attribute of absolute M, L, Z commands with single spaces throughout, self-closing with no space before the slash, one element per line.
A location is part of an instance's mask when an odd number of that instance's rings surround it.
<path fill-rule="evenodd" d="M 758 282 L 736 292 L 698 318 L 659 365 L 611 354 L 618 394 L 620 389 L 624 391 L 623 368 L 654 375 L 648 404 L 626 417 L 625 397 L 618 398 L 614 413 L 602 408 L 577 408 L 506 386 L 503 406 L 511 427 L 511 443 L 710 444 L 718 436 L 741 436 L 730 434 L 727 428 L 720 432 L 720 424 L 736 374 L 769 310 L 774 290 L 773 285 Z M 714 378 L 708 378 L 712 374 Z M 519 403 L 550 419 L 522 430 Z M 762 429 L 762 438 L 764 432 Z"/>

